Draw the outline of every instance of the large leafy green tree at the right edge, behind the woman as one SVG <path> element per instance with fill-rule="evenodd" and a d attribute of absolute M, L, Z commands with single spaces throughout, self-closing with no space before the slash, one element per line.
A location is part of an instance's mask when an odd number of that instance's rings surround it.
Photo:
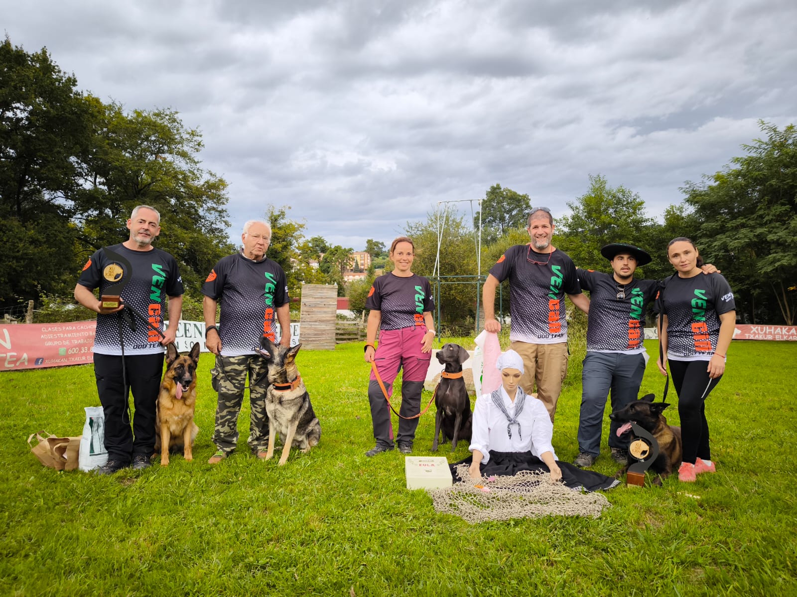
<path fill-rule="evenodd" d="M 701 222 L 698 249 L 728 278 L 737 308 L 753 322 L 759 311 L 791 325 L 797 297 L 797 128 L 779 130 L 764 121 L 760 128 L 766 139 L 744 145 L 747 155 L 683 190 Z"/>

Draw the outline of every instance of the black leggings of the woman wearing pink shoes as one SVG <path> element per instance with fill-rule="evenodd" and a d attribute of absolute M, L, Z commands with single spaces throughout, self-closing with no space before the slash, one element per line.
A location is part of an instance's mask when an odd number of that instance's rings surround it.
<path fill-rule="evenodd" d="M 709 361 L 673 361 L 669 359 L 669 373 L 678 394 L 678 416 L 681 417 L 681 441 L 684 462 L 694 464 L 697 458 L 711 460 L 709 421 L 705 418 L 705 400 L 717 387 L 722 376 L 711 379 Z"/>

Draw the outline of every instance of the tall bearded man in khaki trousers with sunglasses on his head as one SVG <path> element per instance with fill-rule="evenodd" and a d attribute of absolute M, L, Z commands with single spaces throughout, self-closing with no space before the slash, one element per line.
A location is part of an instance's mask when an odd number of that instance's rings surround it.
<path fill-rule="evenodd" d="M 573 260 L 551 244 L 551 210 L 532 209 L 527 229 L 531 242 L 508 248 L 490 268 L 482 290 L 485 330 L 501 331 L 495 318 L 496 288 L 509 279 L 509 348 L 523 357 L 520 385 L 531 394 L 536 384 L 537 397 L 553 422 L 569 357 L 564 295 L 584 313 L 589 312 L 590 302 L 581 293 Z"/>

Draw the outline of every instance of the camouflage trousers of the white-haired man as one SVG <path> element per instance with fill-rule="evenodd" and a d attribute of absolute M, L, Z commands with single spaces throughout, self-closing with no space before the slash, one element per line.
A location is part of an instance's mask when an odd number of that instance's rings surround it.
<path fill-rule="evenodd" d="M 249 376 L 249 439 L 253 452 L 269 447 L 269 416 L 265 412 L 265 392 L 269 388 L 268 367 L 259 355 L 239 357 L 216 356 L 216 366 L 210 370 L 211 383 L 218 392 L 216 427 L 213 443 L 229 454 L 238 446 L 238 413 L 244 399 L 246 377 Z"/>

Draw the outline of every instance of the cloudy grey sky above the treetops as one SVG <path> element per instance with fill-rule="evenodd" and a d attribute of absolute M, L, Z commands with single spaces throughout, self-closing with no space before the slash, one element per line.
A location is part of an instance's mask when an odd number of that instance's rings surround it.
<path fill-rule="evenodd" d="M 657 216 L 758 119 L 797 123 L 793 0 L 0 0 L 0 23 L 198 127 L 233 237 L 270 203 L 360 249 L 496 182 L 561 215 L 588 174 Z"/>

